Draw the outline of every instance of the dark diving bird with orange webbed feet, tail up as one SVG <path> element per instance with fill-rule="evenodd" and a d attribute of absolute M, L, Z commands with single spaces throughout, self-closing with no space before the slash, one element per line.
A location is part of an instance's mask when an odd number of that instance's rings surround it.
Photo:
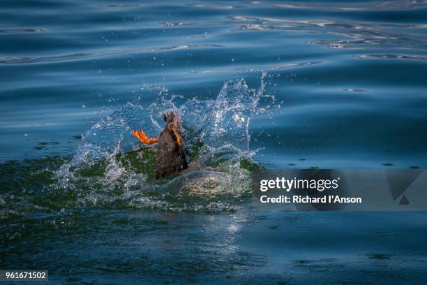
<path fill-rule="evenodd" d="M 188 168 L 186 155 L 179 135 L 179 122 L 174 112 L 163 115 L 165 129 L 158 138 L 148 138 L 144 131 L 133 131 L 133 135 L 141 142 L 151 145 L 158 142 L 156 156 L 156 178 L 177 173 Z"/>

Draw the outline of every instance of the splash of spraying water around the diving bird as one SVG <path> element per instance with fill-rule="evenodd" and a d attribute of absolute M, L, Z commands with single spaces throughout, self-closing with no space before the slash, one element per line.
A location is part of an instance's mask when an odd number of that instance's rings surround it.
<path fill-rule="evenodd" d="M 250 170 L 257 149 L 250 149 L 250 119 L 269 111 L 274 96 L 244 79 L 224 83 L 216 100 L 185 100 L 165 87 L 143 85 L 156 99 L 147 107 L 128 102 L 82 136 L 73 159 L 55 173 L 55 188 L 82 207 L 138 207 L 172 211 L 236 210 L 250 196 Z M 262 101 L 262 103 L 261 103 Z M 263 106 L 262 106 L 263 105 Z M 181 119 L 190 167 L 169 180 L 155 180 L 156 152 L 136 142 L 132 129 L 158 136 L 161 114 Z"/>

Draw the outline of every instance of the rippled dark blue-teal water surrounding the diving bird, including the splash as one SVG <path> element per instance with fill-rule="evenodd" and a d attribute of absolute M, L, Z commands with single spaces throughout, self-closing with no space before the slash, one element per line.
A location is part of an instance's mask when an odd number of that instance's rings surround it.
<path fill-rule="evenodd" d="M 260 212 L 250 170 L 426 168 L 425 1 L 1 1 L 0 269 L 417 284 L 424 212 Z M 153 180 L 177 110 L 192 167 Z M 43 283 L 45 284 L 45 283 Z"/>

